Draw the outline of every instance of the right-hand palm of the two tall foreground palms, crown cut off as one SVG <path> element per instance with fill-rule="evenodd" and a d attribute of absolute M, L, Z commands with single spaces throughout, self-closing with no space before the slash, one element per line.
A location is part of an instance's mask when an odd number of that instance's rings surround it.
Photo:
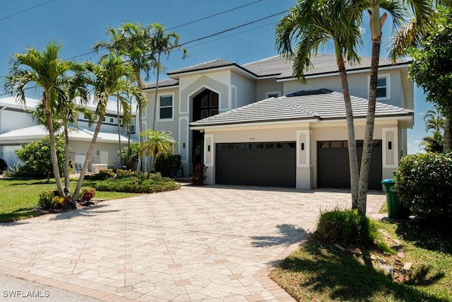
<path fill-rule="evenodd" d="M 388 13 L 393 21 L 393 32 L 398 32 L 406 22 L 407 16 L 412 13 L 418 24 L 428 18 L 432 10 L 428 0 L 367 0 L 360 3 L 369 12 L 370 31 L 372 41 L 372 57 L 369 80 L 369 102 L 367 108 L 366 127 L 364 132 L 364 143 L 362 149 L 361 168 L 359 173 L 358 189 L 358 211 L 359 214 L 366 214 L 367 189 L 369 186 L 369 170 L 371 161 L 371 150 L 374 139 L 374 122 L 376 108 L 376 88 L 378 81 L 379 57 L 381 48 L 381 35 L 383 25 Z M 385 12 L 380 15 L 381 8 Z"/>

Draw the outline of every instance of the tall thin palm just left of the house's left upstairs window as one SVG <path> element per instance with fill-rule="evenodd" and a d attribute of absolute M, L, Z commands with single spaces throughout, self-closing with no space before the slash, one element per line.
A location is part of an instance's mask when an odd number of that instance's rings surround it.
<path fill-rule="evenodd" d="M 160 62 L 161 54 L 166 54 L 167 57 L 169 57 L 169 54 L 173 50 L 182 50 L 182 59 L 185 59 L 189 52 L 184 47 L 181 47 L 179 45 L 180 37 L 176 32 L 172 33 L 165 33 L 165 26 L 163 26 L 160 23 L 152 23 L 150 25 L 151 28 L 153 28 L 153 38 L 151 40 L 151 52 L 153 54 L 157 53 L 157 61 L 154 65 L 155 74 L 156 74 L 156 81 L 155 81 L 155 98 L 154 98 L 154 117 L 153 117 L 153 127 L 152 129 L 155 130 L 155 119 L 157 117 L 157 93 L 158 93 L 158 81 L 159 81 L 159 74 L 163 70 L 163 66 Z"/>

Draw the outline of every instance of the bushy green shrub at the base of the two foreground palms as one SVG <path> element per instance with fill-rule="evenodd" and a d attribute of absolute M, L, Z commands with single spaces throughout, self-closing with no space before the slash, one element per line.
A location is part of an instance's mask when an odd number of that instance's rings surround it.
<path fill-rule="evenodd" d="M 313 238 L 323 243 L 338 243 L 346 248 L 369 247 L 374 244 L 376 227 L 357 210 L 336 208 L 321 213 Z"/>

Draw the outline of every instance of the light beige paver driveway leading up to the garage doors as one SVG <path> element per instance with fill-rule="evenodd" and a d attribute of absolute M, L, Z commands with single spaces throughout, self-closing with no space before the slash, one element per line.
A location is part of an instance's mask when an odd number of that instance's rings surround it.
<path fill-rule="evenodd" d="M 374 193 L 368 211 L 385 199 Z M 319 209 L 347 203 L 340 190 L 183 186 L 2 223 L 0 271 L 105 301 L 290 301 L 271 268 Z"/>

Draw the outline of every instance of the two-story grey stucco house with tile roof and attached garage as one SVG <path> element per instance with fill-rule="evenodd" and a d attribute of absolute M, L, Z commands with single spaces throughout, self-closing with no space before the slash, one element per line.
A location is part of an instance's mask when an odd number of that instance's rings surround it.
<path fill-rule="evenodd" d="M 194 162 L 206 164 L 209 184 L 350 187 L 335 57 L 319 54 L 312 63 L 306 84 L 292 77 L 292 64 L 279 56 L 243 65 L 217 59 L 171 71 L 159 83 L 155 129 L 171 131 L 179 142 L 186 175 Z M 407 152 L 414 106 L 409 63 L 380 59 L 371 189 L 381 190 L 381 180 L 391 177 Z M 347 66 L 359 151 L 369 70 L 369 57 Z M 154 100 L 155 84 L 145 91 Z M 147 116 L 152 122 L 152 105 Z"/>

